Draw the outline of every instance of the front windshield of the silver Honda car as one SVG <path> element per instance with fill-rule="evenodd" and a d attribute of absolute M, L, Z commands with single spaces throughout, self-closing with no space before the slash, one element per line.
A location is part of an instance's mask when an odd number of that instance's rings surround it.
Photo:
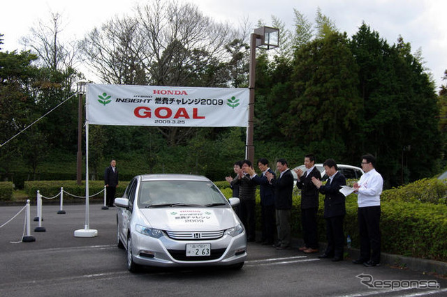
<path fill-rule="evenodd" d="M 138 195 L 141 208 L 162 206 L 227 206 L 214 183 L 207 181 L 143 181 Z"/>

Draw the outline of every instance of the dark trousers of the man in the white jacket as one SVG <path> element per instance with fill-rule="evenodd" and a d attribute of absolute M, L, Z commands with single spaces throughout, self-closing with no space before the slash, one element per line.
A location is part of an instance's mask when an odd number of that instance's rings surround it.
<path fill-rule="evenodd" d="M 357 211 L 360 231 L 360 260 L 380 263 L 380 206 L 360 207 Z"/>

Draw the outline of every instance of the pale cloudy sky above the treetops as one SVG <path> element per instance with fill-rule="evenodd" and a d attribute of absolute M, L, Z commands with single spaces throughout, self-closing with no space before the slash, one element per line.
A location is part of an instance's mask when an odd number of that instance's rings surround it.
<path fill-rule="evenodd" d="M 177 0 L 198 6 L 205 15 L 218 22 L 229 22 L 235 28 L 248 19 L 256 26 L 258 20 L 271 25 L 272 15 L 293 29 L 294 13 L 298 10 L 313 22 L 316 10 L 330 18 L 337 29 L 349 37 L 365 22 L 379 36 L 393 45 L 402 36 L 411 44 L 411 52 L 422 51 L 424 66 L 432 73 L 439 91 L 447 70 L 447 29 L 445 0 Z M 63 16 L 61 38 L 82 39 L 95 26 L 113 17 L 133 15 L 143 0 L 13 0 L 0 4 L 2 51 L 26 50 L 20 38 L 28 36 L 39 20 L 50 20 L 50 12 Z M 91 79 L 91 73 L 85 73 Z M 93 79 L 94 80 L 94 79 Z"/>

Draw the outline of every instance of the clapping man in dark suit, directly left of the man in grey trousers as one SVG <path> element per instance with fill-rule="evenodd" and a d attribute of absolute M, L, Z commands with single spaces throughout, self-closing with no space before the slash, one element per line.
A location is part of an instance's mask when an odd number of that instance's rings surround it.
<path fill-rule="evenodd" d="M 274 189 L 269 183 L 265 174 L 270 172 L 275 177 L 274 172 L 268 166 L 268 160 L 261 158 L 258 160 L 258 168 L 262 174 L 257 175 L 253 168 L 249 170 L 251 179 L 259 185 L 259 195 L 261 196 L 261 245 L 272 245 L 274 243 Z"/>

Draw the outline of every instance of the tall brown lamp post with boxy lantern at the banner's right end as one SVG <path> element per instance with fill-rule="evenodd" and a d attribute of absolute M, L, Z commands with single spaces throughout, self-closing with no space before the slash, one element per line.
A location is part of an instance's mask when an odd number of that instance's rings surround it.
<path fill-rule="evenodd" d="M 279 47 L 279 29 L 261 26 L 254 29 L 250 36 L 250 71 L 249 71 L 249 125 L 247 127 L 247 144 L 245 158 L 254 164 L 254 82 L 256 75 L 256 47 L 270 50 Z"/>

